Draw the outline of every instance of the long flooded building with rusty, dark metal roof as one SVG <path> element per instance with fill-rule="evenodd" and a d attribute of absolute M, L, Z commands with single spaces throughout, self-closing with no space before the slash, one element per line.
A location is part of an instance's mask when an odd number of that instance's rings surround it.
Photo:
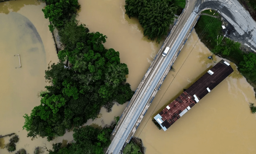
<path fill-rule="evenodd" d="M 166 131 L 175 121 L 182 117 L 233 71 L 228 62 L 221 60 L 178 98 L 166 106 L 154 119 Z"/>

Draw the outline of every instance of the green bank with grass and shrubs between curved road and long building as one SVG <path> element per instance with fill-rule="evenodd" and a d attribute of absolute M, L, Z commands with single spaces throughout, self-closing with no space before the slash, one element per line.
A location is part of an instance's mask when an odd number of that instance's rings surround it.
<path fill-rule="evenodd" d="M 245 53 L 240 50 L 241 44 L 223 38 L 221 24 L 220 18 L 201 15 L 195 30 L 201 41 L 212 53 L 234 62 L 241 74 L 256 90 L 256 54 Z"/>

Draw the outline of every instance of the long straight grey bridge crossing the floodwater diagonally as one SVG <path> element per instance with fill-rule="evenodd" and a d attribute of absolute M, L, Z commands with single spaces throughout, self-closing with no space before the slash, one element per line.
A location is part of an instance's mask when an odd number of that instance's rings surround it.
<path fill-rule="evenodd" d="M 154 58 L 154 61 L 147 70 L 147 73 L 112 132 L 112 142 L 106 154 L 120 154 L 123 147 L 126 143 L 129 143 L 135 133 L 143 116 L 147 112 L 147 108 L 150 106 L 158 90 L 160 90 L 161 84 L 199 19 L 196 13 L 199 7 L 197 7 L 196 2 L 197 0 L 190 0 L 187 3 L 171 32 L 168 34 L 163 46 Z M 166 57 L 163 57 L 162 53 L 167 46 L 171 50 Z"/>

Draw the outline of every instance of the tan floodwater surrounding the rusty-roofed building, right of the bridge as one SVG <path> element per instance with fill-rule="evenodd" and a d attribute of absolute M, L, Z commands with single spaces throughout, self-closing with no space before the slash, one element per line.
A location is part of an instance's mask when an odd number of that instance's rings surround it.
<path fill-rule="evenodd" d="M 181 117 L 167 131 L 158 130 L 152 118 L 221 59 L 198 41 L 193 30 L 161 90 L 138 127 L 146 154 L 255 154 L 256 103 L 253 88 L 236 70 Z"/>

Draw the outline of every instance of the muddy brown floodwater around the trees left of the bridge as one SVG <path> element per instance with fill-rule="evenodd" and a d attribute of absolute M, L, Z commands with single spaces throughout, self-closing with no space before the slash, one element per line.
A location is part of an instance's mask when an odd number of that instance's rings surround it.
<path fill-rule="evenodd" d="M 143 37 L 142 28 L 137 20 L 127 21 L 129 18 L 123 14 L 124 2 L 102 0 L 99 4 L 87 0 L 79 3 L 81 4 L 80 21 L 85 23 L 91 32 L 99 31 L 107 35 L 106 48 L 120 51 L 121 62 L 128 64 L 128 82 L 135 90 L 153 60 L 152 57 L 161 46 Z M 67 143 L 73 140 L 71 131 L 52 142 L 47 142 L 46 138 L 36 138 L 32 141 L 31 138 L 26 138 L 27 132 L 22 130 L 24 125 L 22 116 L 25 113 L 30 114 L 33 107 L 40 104 L 38 92 L 44 90 L 47 84 L 44 72 L 49 62 L 58 62 L 52 34 L 48 28 L 49 21 L 44 18 L 41 11 L 44 7 L 45 3 L 37 0 L 0 3 L 0 53 L 2 54 L 0 135 L 16 133 L 20 138 L 17 150 L 25 148 L 30 154 L 33 154 L 37 146 L 45 144 L 51 149 L 52 143 Z M 106 12 L 107 8 L 111 8 L 111 11 Z M 98 20 L 95 20 L 95 17 Z M 21 58 L 21 68 L 18 68 L 19 57 L 14 56 L 17 54 Z M 99 117 L 94 121 L 88 120 L 86 125 L 110 124 L 114 116 L 123 113 L 126 106 L 127 103 L 115 104 L 111 113 L 107 113 L 106 109 L 102 108 Z M 0 139 L 1 154 L 9 153 L 3 149 L 8 142 L 9 137 Z"/>

